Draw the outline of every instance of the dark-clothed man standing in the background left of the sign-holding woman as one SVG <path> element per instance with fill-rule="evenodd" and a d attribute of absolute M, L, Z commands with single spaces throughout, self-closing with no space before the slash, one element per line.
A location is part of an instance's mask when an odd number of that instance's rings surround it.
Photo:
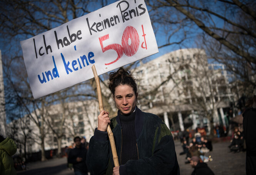
<path fill-rule="evenodd" d="M 75 137 L 75 148 L 70 150 L 68 163 L 73 164 L 75 175 L 87 175 L 86 153 L 87 149 L 81 146 L 81 138 Z"/>

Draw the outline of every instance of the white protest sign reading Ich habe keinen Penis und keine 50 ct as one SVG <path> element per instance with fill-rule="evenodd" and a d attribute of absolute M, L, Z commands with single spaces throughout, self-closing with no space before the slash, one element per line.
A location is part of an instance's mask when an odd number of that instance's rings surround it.
<path fill-rule="evenodd" d="M 158 52 L 144 0 L 120 0 L 21 41 L 34 98 Z"/>

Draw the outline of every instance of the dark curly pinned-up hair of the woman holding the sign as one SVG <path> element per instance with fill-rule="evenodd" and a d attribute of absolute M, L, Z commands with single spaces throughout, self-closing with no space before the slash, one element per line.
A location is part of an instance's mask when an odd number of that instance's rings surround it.
<path fill-rule="evenodd" d="M 135 95 L 137 94 L 136 79 L 132 77 L 129 70 L 119 68 L 117 72 L 109 73 L 109 90 L 113 95 L 115 95 L 115 88 L 119 85 L 129 85 L 134 90 Z"/>

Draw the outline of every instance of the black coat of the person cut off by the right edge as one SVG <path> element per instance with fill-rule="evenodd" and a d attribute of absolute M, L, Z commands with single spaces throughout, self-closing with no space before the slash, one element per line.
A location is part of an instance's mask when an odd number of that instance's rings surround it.
<path fill-rule="evenodd" d="M 246 143 L 246 174 L 256 174 L 256 108 L 246 109 L 243 117 Z"/>

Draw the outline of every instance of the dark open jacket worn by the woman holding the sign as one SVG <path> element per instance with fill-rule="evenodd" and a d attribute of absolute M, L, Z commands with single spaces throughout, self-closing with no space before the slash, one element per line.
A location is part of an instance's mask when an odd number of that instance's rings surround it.
<path fill-rule="evenodd" d="M 114 134 L 120 164 L 122 128 L 118 116 L 111 119 L 110 127 Z M 135 130 L 139 160 L 129 160 L 121 165 L 120 175 L 179 175 L 174 141 L 161 118 L 137 108 Z M 89 172 L 94 175 L 112 175 L 114 161 L 107 132 L 95 129 L 94 136 L 90 139 L 86 163 Z"/>

